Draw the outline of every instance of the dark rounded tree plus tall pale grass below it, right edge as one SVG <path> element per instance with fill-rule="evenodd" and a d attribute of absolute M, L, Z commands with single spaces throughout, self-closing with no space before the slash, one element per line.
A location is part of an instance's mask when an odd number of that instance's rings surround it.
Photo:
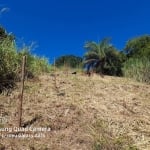
<path fill-rule="evenodd" d="M 122 69 L 124 76 L 150 83 L 150 36 L 129 40 L 124 51 L 128 57 Z"/>

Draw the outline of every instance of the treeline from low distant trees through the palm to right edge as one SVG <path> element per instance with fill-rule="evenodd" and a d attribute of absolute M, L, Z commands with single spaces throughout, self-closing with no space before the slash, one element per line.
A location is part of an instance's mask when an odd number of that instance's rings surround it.
<path fill-rule="evenodd" d="M 66 55 L 56 59 L 56 66 L 86 68 L 104 75 L 125 76 L 150 83 L 150 36 L 130 39 L 124 49 L 118 50 L 108 38 L 99 43 L 88 41 L 83 57 Z"/>

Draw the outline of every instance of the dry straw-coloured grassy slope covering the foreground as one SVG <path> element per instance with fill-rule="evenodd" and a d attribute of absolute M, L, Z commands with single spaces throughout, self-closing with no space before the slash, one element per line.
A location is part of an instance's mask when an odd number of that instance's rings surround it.
<path fill-rule="evenodd" d="M 40 138 L 1 138 L 1 149 L 150 149 L 149 85 L 58 72 L 56 77 L 47 74 L 27 81 L 24 92 L 24 127 L 51 131 Z M 1 128 L 16 127 L 18 94 L 16 89 L 0 96 L 1 117 L 7 119 Z"/>

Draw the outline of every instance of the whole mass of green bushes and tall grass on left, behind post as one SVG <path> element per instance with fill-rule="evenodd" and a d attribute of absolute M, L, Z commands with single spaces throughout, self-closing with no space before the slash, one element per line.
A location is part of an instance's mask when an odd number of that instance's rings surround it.
<path fill-rule="evenodd" d="M 0 93 L 15 85 L 19 72 L 21 72 L 23 55 L 27 56 L 26 71 L 32 76 L 50 71 L 50 65 L 46 58 L 32 55 L 29 47 L 18 52 L 14 36 L 0 27 Z"/>

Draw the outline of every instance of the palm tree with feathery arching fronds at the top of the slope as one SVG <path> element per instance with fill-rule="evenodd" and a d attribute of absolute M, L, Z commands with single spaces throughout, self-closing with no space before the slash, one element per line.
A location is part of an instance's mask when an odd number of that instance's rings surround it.
<path fill-rule="evenodd" d="M 84 55 L 84 66 L 86 66 L 87 73 L 90 70 L 95 70 L 97 73 L 103 73 L 103 68 L 106 61 L 106 52 L 112 49 L 109 39 L 105 38 L 99 43 L 87 42 L 84 48 L 87 52 Z"/>

